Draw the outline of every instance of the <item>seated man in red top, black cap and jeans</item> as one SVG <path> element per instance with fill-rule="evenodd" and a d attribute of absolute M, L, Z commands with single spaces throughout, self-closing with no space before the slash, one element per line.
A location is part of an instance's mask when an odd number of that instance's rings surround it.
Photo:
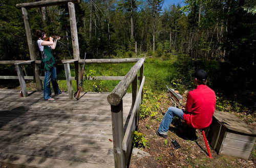
<path fill-rule="evenodd" d="M 216 105 L 215 92 L 206 86 L 207 73 L 204 70 L 198 70 L 194 76 L 197 89 L 188 93 L 186 108 L 169 107 L 156 131 L 157 135 L 167 138 L 169 125 L 175 116 L 191 128 L 210 126 Z"/>

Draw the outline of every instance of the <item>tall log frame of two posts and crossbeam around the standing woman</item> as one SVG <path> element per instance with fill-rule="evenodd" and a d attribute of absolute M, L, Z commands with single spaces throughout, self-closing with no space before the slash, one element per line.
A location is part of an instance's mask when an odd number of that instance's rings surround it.
<path fill-rule="evenodd" d="M 54 6 L 54 5 L 62 5 L 62 4 L 68 4 L 69 7 L 69 18 L 70 18 L 70 27 L 71 27 L 71 36 L 72 36 L 72 46 L 73 46 L 73 55 L 75 60 L 79 60 L 79 44 L 78 44 L 78 36 L 77 36 L 77 27 L 76 27 L 76 15 L 75 15 L 75 5 L 74 3 L 79 3 L 80 0 L 46 0 L 46 1 L 38 1 L 38 2 L 31 2 L 31 3 L 22 3 L 22 4 L 16 4 L 16 8 L 22 9 L 23 13 L 23 18 L 24 18 L 24 23 L 25 23 L 25 29 L 26 29 L 26 34 L 27 34 L 27 40 L 28 40 L 28 46 L 29 46 L 29 53 L 30 53 L 30 59 L 32 61 L 36 60 L 36 52 L 35 52 L 35 47 L 34 47 L 34 42 L 32 38 L 32 31 L 31 31 L 31 26 L 29 22 L 29 17 L 28 17 L 28 9 L 31 8 L 39 8 L 39 7 L 47 7 L 47 6 Z M 35 81 L 36 81 L 36 86 L 37 90 L 40 91 L 42 90 L 42 83 L 40 81 L 40 73 L 39 73 L 39 67 L 37 64 L 34 64 L 34 74 L 35 74 Z M 76 69 L 78 69 L 79 73 L 81 72 L 81 67 L 77 65 Z M 78 72 L 76 71 L 76 76 L 78 75 Z M 77 79 L 77 86 L 78 86 L 78 81 Z"/>

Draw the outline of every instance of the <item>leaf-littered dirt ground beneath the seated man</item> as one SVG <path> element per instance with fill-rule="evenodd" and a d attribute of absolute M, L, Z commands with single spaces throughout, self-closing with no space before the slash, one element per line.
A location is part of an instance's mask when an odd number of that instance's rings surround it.
<path fill-rule="evenodd" d="M 151 154 L 150 157 L 132 156 L 130 167 L 256 167 L 255 148 L 252 159 L 244 160 L 227 155 L 218 155 L 210 149 L 213 159 L 207 157 L 203 135 L 197 130 L 197 141 L 189 140 L 187 127 L 179 119 L 174 119 L 170 125 L 167 142 L 156 135 L 156 130 L 163 118 L 167 107 L 172 105 L 168 100 L 161 102 L 160 112 L 153 118 L 141 119 L 138 132 L 144 134 L 147 139 L 147 147 L 141 149 Z M 255 120 L 254 120 L 255 128 Z M 181 146 L 175 149 L 172 144 L 175 139 Z"/>

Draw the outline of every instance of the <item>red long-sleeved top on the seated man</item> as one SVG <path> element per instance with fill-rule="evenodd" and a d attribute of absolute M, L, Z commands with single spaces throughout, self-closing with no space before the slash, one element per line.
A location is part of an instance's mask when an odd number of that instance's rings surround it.
<path fill-rule="evenodd" d="M 216 105 L 215 92 L 206 85 L 199 85 L 197 89 L 187 95 L 186 112 L 183 119 L 190 127 L 202 129 L 211 124 Z"/>

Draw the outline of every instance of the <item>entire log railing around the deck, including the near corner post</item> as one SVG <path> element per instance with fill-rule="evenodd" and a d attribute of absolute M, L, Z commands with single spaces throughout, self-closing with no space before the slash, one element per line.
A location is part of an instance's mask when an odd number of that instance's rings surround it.
<path fill-rule="evenodd" d="M 125 167 L 128 164 L 132 150 L 133 131 L 139 124 L 139 110 L 143 97 L 143 86 L 145 81 L 144 76 L 144 58 L 132 59 L 91 59 L 86 60 L 86 63 L 132 63 L 136 64 L 125 76 L 89 76 L 84 77 L 87 80 L 121 80 L 115 89 L 108 96 L 108 102 L 111 104 L 112 130 L 113 130 L 113 148 L 115 167 Z M 67 88 L 69 98 L 73 99 L 72 80 L 78 81 L 78 66 L 83 64 L 83 60 L 62 60 L 61 63 L 65 67 L 65 77 L 57 77 L 57 79 L 67 80 Z M 0 76 L 0 79 L 19 79 L 20 86 L 24 97 L 28 96 L 25 79 L 35 79 L 35 76 L 24 76 L 23 65 L 40 64 L 40 61 L 0 61 L 0 64 L 15 65 L 17 76 Z M 75 65 L 76 76 L 71 76 L 70 64 Z M 80 72 L 81 73 L 81 72 Z M 139 76 L 138 76 L 139 73 Z M 39 76 L 39 80 L 44 79 L 44 76 Z M 139 89 L 138 89 L 138 80 Z M 126 94 L 128 88 L 132 84 L 132 106 L 131 115 L 124 132 L 123 126 L 123 101 L 122 98 Z M 78 82 L 77 82 L 78 86 Z"/>

